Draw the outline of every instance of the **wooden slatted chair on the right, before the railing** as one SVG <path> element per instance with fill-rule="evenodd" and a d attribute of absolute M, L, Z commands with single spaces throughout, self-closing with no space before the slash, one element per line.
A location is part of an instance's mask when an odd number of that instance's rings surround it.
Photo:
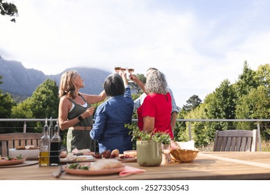
<path fill-rule="evenodd" d="M 215 132 L 214 152 L 255 152 L 258 130 L 224 130 Z"/>

